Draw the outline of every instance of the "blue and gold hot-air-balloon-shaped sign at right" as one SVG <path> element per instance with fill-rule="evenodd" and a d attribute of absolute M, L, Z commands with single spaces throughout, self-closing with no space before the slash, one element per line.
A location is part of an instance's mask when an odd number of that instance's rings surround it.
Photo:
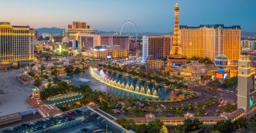
<path fill-rule="evenodd" d="M 218 72 L 224 72 L 225 68 L 227 68 L 229 59 L 226 55 L 218 55 L 214 59 L 214 65 L 218 68 Z"/>

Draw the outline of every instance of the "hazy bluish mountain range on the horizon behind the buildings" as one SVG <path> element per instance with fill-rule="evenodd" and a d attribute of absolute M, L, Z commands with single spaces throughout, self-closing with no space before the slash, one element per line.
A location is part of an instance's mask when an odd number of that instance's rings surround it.
<path fill-rule="evenodd" d="M 38 34 L 42 34 L 42 33 L 61 33 L 61 31 L 63 31 L 64 29 L 60 29 L 60 28 L 56 28 L 56 27 L 52 27 L 52 28 L 40 28 L 40 29 L 35 29 L 38 31 Z M 115 34 L 115 33 L 119 33 L 119 31 L 98 31 L 95 30 L 95 33 L 100 33 L 100 34 Z M 130 34 L 130 35 L 135 35 L 135 33 L 122 33 L 123 35 L 126 34 Z M 138 35 L 173 35 L 173 32 L 169 32 L 169 33 L 152 33 L 152 32 L 138 32 Z M 241 32 L 241 36 L 244 38 L 256 38 L 256 33 L 252 33 L 252 32 L 245 32 L 242 31 Z"/>

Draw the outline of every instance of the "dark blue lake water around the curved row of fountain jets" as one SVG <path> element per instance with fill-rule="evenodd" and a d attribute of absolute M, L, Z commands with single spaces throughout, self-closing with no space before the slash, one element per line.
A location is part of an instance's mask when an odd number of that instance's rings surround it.
<path fill-rule="evenodd" d="M 165 87 L 162 87 L 160 85 L 154 85 L 152 83 L 147 83 L 143 80 L 138 80 L 137 78 L 131 78 L 127 76 L 123 76 L 122 74 L 116 74 L 113 72 L 107 72 L 104 70 L 98 70 L 98 68 L 94 68 L 94 72 L 97 72 L 100 76 L 103 76 L 105 78 L 111 78 L 113 80 L 116 80 L 116 82 L 123 83 L 124 85 L 128 84 L 129 86 L 132 85 L 134 89 L 138 87 L 143 87 L 147 93 L 154 92 L 159 95 L 159 98 L 164 99 L 173 99 L 173 98 L 184 98 L 186 97 L 187 93 L 182 93 L 181 91 L 175 91 L 174 89 L 165 89 Z M 86 70 L 85 72 L 79 72 L 76 74 L 68 74 L 68 76 L 64 76 L 62 79 L 64 80 L 71 80 L 74 85 L 89 85 L 91 89 L 98 90 L 98 91 L 104 91 L 106 93 L 111 93 L 112 95 L 122 95 L 122 96 L 134 96 L 137 98 L 148 98 L 144 95 L 139 95 L 135 93 L 130 93 L 128 91 L 122 91 L 120 89 L 116 89 L 114 87 L 111 87 L 109 85 L 105 85 L 104 83 L 101 83 L 99 80 L 94 79 L 91 74 L 89 74 L 89 70 Z"/>

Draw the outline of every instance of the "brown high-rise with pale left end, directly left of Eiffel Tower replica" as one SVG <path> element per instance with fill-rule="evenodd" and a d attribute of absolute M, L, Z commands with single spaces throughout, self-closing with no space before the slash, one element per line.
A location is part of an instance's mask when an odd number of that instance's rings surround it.
<path fill-rule="evenodd" d="M 171 50 L 172 36 L 159 35 L 159 36 L 143 36 L 143 45 L 148 43 L 148 55 L 153 55 L 154 59 L 167 58 Z M 147 38 L 147 39 L 145 39 Z M 147 58 L 147 57 L 146 57 Z"/>

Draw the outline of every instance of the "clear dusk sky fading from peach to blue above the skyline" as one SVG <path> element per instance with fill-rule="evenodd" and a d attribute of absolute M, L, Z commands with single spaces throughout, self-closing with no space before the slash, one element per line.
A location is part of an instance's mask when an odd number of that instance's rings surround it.
<path fill-rule="evenodd" d="M 101 31 L 120 31 L 132 20 L 139 32 L 173 31 L 173 0 L 9 0 L 1 1 L 0 21 L 33 28 L 66 28 L 72 20 L 87 22 Z M 256 32 L 255 0 L 178 0 L 180 25 L 240 25 L 242 31 Z M 126 25 L 124 32 L 133 32 Z"/>

